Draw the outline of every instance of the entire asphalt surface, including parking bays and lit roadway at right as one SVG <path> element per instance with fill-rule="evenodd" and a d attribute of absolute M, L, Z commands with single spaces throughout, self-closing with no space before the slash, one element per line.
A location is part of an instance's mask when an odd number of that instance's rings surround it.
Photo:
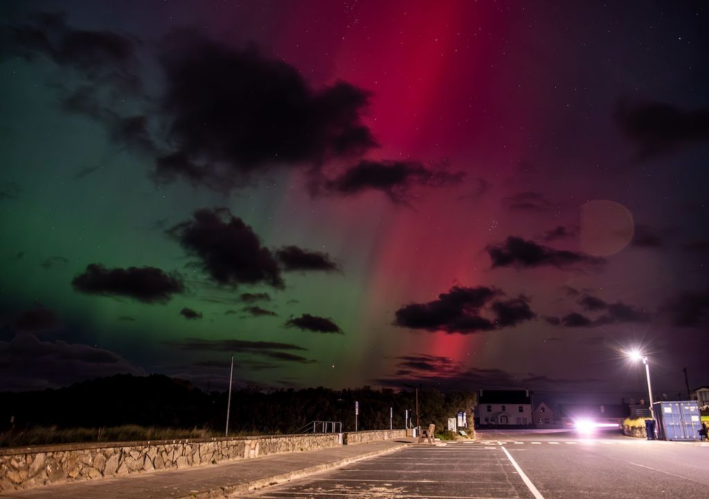
<path fill-rule="evenodd" d="M 240 497 L 707 499 L 709 444 L 479 432 L 474 443 L 411 446 Z"/>

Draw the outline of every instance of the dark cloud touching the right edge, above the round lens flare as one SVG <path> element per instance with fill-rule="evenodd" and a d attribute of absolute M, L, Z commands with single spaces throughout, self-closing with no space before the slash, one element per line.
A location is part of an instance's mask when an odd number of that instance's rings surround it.
<path fill-rule="evenodd" d="M 689 143 L 709 141 L 709 109 L 684 111 L 661 102 L 620 102 L 620 128 L 642 157 L 669 153 Z"/>

